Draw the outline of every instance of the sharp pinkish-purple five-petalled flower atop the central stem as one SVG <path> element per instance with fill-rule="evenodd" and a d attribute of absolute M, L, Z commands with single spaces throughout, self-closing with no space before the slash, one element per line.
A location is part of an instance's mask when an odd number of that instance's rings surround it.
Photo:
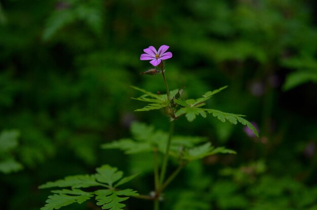
<path fill-rule="evenodd" d="M 140 57 L 141 61 L 151 60 L 150 64 L 157 66 L 161 64 L 162 60 L 167 60 L 172 58 L 171 52 L 166 52 L 170 46 L 162 45 L 159 50 L 156 51 L 155 47 L 149 46 L 146 49 L 143 49 L 145 54 L 142 54 Z"/>

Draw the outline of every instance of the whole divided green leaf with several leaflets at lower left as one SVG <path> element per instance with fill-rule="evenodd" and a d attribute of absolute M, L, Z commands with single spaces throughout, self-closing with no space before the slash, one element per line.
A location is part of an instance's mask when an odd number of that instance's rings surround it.
<path fill-rule="evenodd" d="M 77 175 L 72 177 L 66 177 L 64 180 L 58 180 L 56 182 L 49 182 L 39 188 L 48 187 L 72 187 L 72 189 L 61 189 L 53 190 L 53 195 L 49 196 L 46 201 L 47 204 L 42 207 L 42 210 L 53 210 L 59 209 L 62 206 L 66 206 L 72 203 L 83 203 L 84 201 L 90 199 L 96 195 L 96 200 L 98 205 L 103 205 L 103 209 L 122 209 L 125 204 L 121 203 L 127 200 L 129 196 L 138 195 L 138 193 L 132 189 L 118 190 L 112 187 L 114 182 L 117 182 L 115 186 L 125 184 L 132 179 L 134 179 L 138 174 L 125 177 L 123 179 L 123 172 L 118 171 L 117 168 L 111 167 L 109 165 L 101 166 L 96 169 L 97 174 L 95 175 Z M 105 184 L 100 184 L 96 180 Z M 121 180 L 120 180 L 121 179 Z M 120 180 L 120 181 L 119 181 Z M 75 189 L 78 187 L 89 187 L 89 186 L 103 186 L 108 189 L 97 190 L 94 192 L 85 192 L 80 189 Z"/>

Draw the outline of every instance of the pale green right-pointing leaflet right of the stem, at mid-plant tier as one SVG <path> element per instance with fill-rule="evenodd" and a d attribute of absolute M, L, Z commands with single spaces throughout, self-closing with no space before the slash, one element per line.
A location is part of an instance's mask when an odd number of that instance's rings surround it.
<path fill-rule="evenodd" d="M 183 159 L 187 161 L 194 161 L 197 159 L 205 158 L 206 156 L 216 154 L 216 153 L 232 153 L 235 151 L 231 149 L 226 149 L 224 147 L 213 147 L 210 142 L 203 145 L 196 146 L 194 148 L 187 149 L 183 152 Z"/>

